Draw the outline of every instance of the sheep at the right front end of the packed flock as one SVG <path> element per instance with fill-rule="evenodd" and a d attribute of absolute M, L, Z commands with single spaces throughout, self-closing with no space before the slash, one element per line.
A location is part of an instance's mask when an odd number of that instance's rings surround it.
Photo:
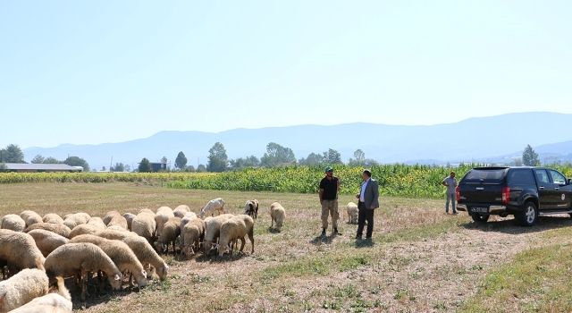
<path fill-rule="evenodd" d="M 237 240 L 240 240 L 240 252 L 244 249 L 245 239 L 252 244 L 250 253 L 254 253 L 254 220 L 247 215 L 234 216 L 221 225 L 221 235 L 218 245 L 218 255 L 223 257 L 224 252 L 229 250 L 229 245 L 233 243 L 236 246 Z M 232 248 L 231 248 L 232 254 Z"/>

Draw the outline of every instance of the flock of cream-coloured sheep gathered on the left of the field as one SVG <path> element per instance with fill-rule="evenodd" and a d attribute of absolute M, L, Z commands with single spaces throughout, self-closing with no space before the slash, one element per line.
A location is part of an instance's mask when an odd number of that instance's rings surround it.
<path fill-rule="evenodd" d="M 214 216 L 214 213 L 218 215 Z M 199 251 L 219 256 L 244 249 L 254 253 L 258 201 L 248 200 L 244 214 L 224 213 L 223 199 L 213 199 L 199 214 L 188 206 L 174 210 L 144 208 L 138 214 L 108 212 L 103 218 L 75 213 L 39 216 L 30 210 L 3 216 L 0 223 L 0 312 L 71 312 L 64 278 L 73 277 L 85 302 L 88 283 L 119 290 L 127 283 L 143 287 L 154 275 L 164 280 L 169 266 L 160 257 L 176 246 L 190 257 Z M 270 207 L 271 227 L 281 230 L 286 213 Z M 105 281 L 107 283 L 105 283 Z M 49 286 L 55 292 L 49 292 Z"/>

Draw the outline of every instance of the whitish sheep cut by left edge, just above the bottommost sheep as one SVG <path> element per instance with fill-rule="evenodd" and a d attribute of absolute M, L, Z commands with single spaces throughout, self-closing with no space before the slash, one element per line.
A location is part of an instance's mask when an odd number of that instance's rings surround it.
<path fill-rule="evenodd" d="M 0 312 L 17 309 L 34 298 L 48 292 L 46 273 L 37 268 L 27 268 L 0 282 Z"/>

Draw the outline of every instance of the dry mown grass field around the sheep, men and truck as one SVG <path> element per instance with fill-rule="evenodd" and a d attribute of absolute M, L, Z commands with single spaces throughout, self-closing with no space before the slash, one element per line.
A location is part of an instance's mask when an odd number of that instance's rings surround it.
<path fill-rule="evenodd" d="M 0 215 L 108 210 L 136 212 L 187 204 L 198 211 L 223 197 L 232 213 L 261 202 L 255 253 L 225 258 L 164 256 L 169 278 L 139 292 L 93 297 L 86 312 L 570 311 L 572 221 L 542 217 L 532 228 L 510 218 L 475 225 L 445 215 L 442 200 L 383 197 L 373 244 L 356 225 L 321 239 L 315 194 L 178 190 L 132 182 L 15 183 L 0 188 Z M 351 200 L 342 196 L 342 207 Z M 269 230 L 268 207 L 287 210 L 282 233 Z M 249 251 L 249 243 L 245 251 Z M 77 297 L 74 297 L 77 298 Z M 78 303 L 75 303 L 76 308 Z"/>

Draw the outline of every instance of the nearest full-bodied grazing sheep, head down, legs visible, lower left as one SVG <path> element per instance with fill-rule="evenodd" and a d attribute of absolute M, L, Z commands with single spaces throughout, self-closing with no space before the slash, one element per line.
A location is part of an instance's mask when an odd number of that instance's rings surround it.
<path fill-rule="evenodd" d="M 58 247 L 46 258 L 48 277 L 80 275 L 81 301 L 86 300 L 88 273 L 103 271 L 114 290 L 122 285 L 122 273 L 104 250 L 93 243 L 67 243 Z"/>

